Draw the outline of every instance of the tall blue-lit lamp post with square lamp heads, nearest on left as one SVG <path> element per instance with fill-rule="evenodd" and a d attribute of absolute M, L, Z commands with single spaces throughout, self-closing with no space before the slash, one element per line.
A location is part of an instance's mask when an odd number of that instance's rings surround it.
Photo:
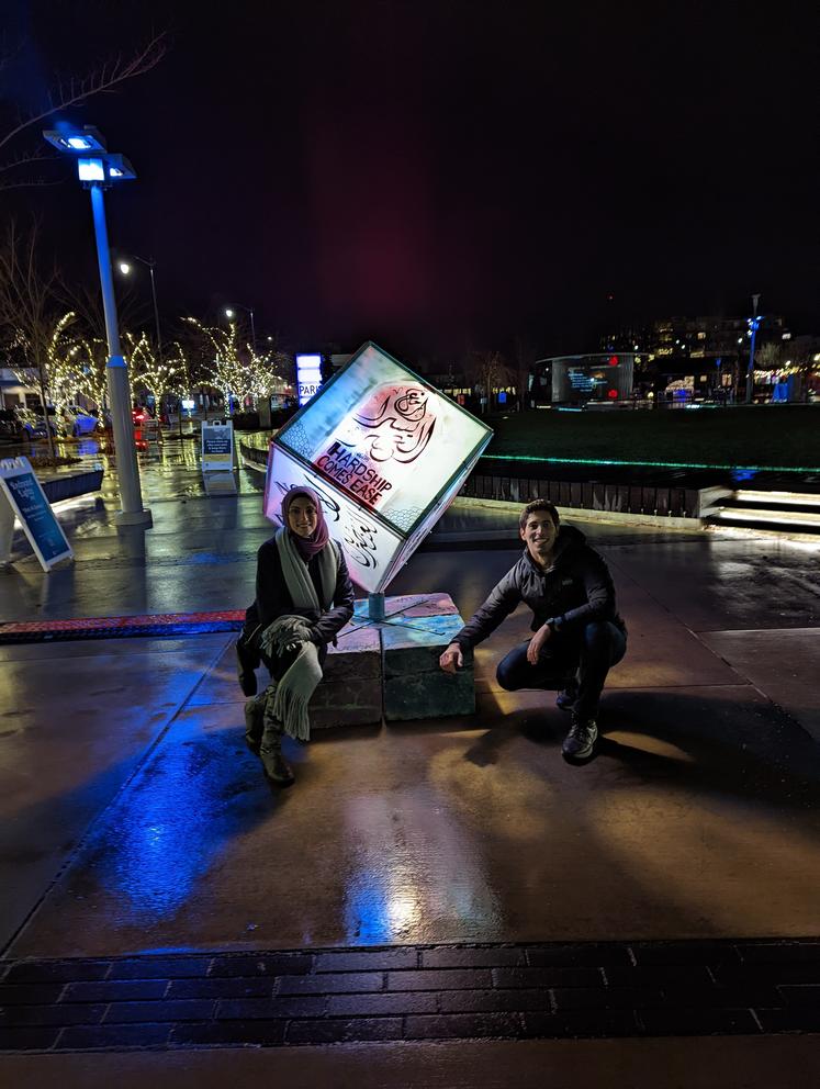
<path fill-rule="evenodd" d="M 150 510 L 143 507 L 143 494 L 139 486 L 139 465 L 137 464 L 134 425 L 131 417 L 128 368 L 120 346 L 114 280 L 111 274 L 111 255 L 109 252 L 103 201 L 103 190 L 117 181 L 128 181 L 136 178 L 136 173 L 125 156 L 114 155 L 108 150 L 102 134 L 90 125 L 86 125 L 81 130 L 69 127 L 46 130 L 43 135 L 58 151 L 65 151 L 77 160 L 79 179 L 83 188 L 88 189 L 91 194 L 97 259 L 100 267 L 100 288 L 105 312 L 105 336 L 109 345 L 105 372 L 122 508 L 116 515 L 116 521 L 121 526 L 150 526 Z"/>

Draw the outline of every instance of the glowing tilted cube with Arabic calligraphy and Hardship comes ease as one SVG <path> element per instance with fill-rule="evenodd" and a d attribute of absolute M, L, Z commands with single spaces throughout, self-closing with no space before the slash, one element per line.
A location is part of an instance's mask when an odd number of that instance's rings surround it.
<path fill-rule="evenodd" d="M 271 444 L 265 514 L 308 484 L 350 576 L 381 593 L 458 494 L 488 427 L 366 344 Z"/>

